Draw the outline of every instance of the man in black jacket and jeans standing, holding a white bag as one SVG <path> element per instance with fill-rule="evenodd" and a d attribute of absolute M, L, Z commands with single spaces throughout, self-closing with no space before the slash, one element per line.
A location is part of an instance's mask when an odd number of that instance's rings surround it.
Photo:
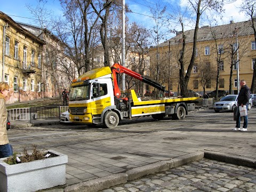
<path fill-rule="evenodd" d="M 240 81 L 240 92 L 237 97 L 237 110 L 236 110 L 236 127 L 232 130 L 240 130 L 240 131 L 247 131 L 247 125 L 248 125 L 248 116 L 244 116 L 244 125 L 243 128 L 240 129 L 240 112 L 239 112 L 239 106 L 243 107 L 246 106 L 246 110 L 248 109 L 249 99 L 250 99 L 250 90 L 249 87 L 246 85 L 246 82 L 244 80 Z"/>

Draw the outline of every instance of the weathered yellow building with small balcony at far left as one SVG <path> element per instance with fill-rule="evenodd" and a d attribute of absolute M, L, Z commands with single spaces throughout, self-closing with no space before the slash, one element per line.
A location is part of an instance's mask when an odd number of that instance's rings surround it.
<path fill-rule="evenodd" d="M 0 11 L 0 74 L 8 83 L 9 103 L 42 98 L 44 42 Z"/>

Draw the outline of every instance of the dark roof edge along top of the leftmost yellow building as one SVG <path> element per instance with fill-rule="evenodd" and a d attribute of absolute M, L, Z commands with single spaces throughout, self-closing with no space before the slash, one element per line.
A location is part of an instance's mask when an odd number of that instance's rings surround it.
<path fill-rule="evenodd" d="M 37 42 L 39 42 L 41 44 L 45 44 L 45 42 L 42 41 L 42 39 L 38 38 L 36 35 L 31 33 L 29 30 L 27 30 L 27 29 L 23 28 L 22 26 L 20 26 L 18 22 L 15 22 L 11 17 L 9 17 L 9 15 L 5 14 L 2 11 L 0 11 L 0 18 L 5 20 L 9 24 L 11 24 L 14 28 L 19 30 L 21 33 L 23 33 L 23 34 L 29 36 L 30 38 L 32 38 L 34 41 L 37 41 Z"/>

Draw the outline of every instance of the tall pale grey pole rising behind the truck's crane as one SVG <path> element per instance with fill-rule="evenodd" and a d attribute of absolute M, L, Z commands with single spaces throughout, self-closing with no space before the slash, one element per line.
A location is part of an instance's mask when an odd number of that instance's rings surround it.
<path fill-rule="evenodd" d="M 122 6 L 122 66 L 125 67 L 125 0 Z M 122 91 L 125 91 L 125 74 L 122 74 Z"/>

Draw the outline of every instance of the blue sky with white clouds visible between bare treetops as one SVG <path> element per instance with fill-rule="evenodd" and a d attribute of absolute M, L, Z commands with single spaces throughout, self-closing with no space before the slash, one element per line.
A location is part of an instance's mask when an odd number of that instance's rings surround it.
<path fill-rule="evenodd" d="M 159 1 L 161 1 L 163 5 L 167 5 L 168 11 L 171 11 L 171 7 L 177 3 L 176 0 Z M 242 1 L 243 0 L 236 0 L 235 3 L 226 5 L 226 13 L 223 14 L 224 17 L 222 20 L 219 20 L 218 24 L 226 24 L 230 20 L 234 20 L 235 22 L 247 20 L 247 18 L 244 17 L 244 14 L 239 12 L 239 9 L 237 8 Z M 30 14 L 26 4 L 33 5 L 35 7 L 37 3 L 38 1 L 36 0 L 5 0 L 1 1 L 0 10 L 9 15 L 14 21 L 33 24 L 34 16 L 33 14 Z M 131 21 L 135 20 L 146 26 L 153 25 L 153 21 L 150 19 L 150 17 L 147 17 L 147 15 L 151 14 L 149 6 L 154 5 L 156 3 L 155 0 L 125 0 L 125 3 L 128 4 L 132 12 L 134 12 L 127 14 Z M 48 0 L 45 6 L 47 9 L 52 10 L 54 14 L 61 14 L 59 0 Z"/>

